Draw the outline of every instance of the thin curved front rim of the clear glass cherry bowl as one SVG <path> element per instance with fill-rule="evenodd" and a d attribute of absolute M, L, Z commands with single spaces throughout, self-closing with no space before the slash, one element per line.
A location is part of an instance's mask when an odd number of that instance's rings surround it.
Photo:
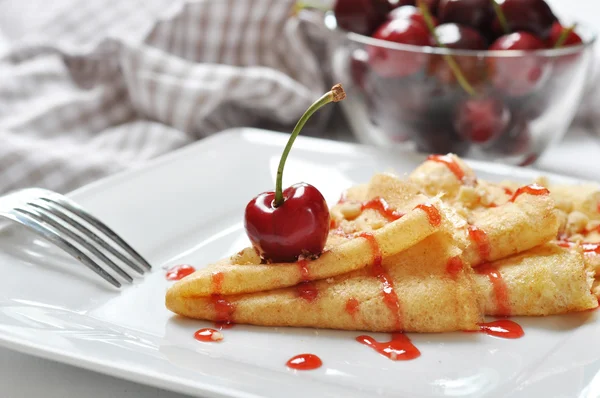
<path fill-rule="evenodd" d="M 368 45 L 371 47 L 386 48 L 389 50 L 398 50 L 406 52 L 415 52 L 419 54 L 431 55 L 457 55 L 470 57 L 494 57 L 494 58 L 515 58 L 535 55 L 538 57 L 561 57 L 564 55 L 577 54 L 589 47 L 593 47 L 596 43 L 597 33 L 589 24 L 577 22 L 578 31 L 583 30 L 586 35 L 583 43 L 576 46 L 568 46 L 561 48 L 545 48 L 540 50 L 457 50 L 442 47 L 432 46 L 417 46 L 413 44 L 395 43 L 392 41 L 375 39 L 370 36 L 361 35 L 359 33 L 350 32 L 337 26 L 333 11 L 327 11 L 324 15 L 324 25 L 327 29 L 335 31 L 338 34 L 343 34 L 352 42 Z"/>

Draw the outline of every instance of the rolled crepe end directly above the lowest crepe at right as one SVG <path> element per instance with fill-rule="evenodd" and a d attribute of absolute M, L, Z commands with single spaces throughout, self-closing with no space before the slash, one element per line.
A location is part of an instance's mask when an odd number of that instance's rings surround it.
<path fill-rule="evenodd" d="M 514 203 L 473 212 L 470 218 L 466 233 L 457 229 L 455 238 L 467 239 L 464 259 L 473 267 L 546 243 L 556 238 L 560 226 L 549 195 L 523 194 Z"/>

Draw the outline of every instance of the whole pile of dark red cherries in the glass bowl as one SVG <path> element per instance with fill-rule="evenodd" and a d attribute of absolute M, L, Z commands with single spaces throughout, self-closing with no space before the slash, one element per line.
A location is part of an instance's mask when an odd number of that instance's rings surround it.
<path fill-rule="evenodd" d="M 582 43 L 544 0 L 337 0 L 334 14 L 345 30 L 413 46 L 530 51 Z M 557 70 L 577 62 L 535 53 L 451 58 L 454 69 L 439 54 L 366 46 L 353 52 L 350 68 L 372 121 L 398 141 L 413 139 L 427 152 L 478 145 L 509 156 L 532 151 L 529 123 L 544 111 L 548 90 L 558 91 Z"/>

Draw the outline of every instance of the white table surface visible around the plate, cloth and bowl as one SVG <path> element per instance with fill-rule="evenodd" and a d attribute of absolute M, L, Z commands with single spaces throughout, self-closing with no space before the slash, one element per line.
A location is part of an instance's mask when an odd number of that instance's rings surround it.
<path fill-rule="evenodd" d="M 0 51 L 11 39 L 39 26 L 53 12 L 78 0 L 0 0 Z M 600 18 L 597 0 L 549 1 L 559 14 L 589 22 Z M 331 136 L 338 135 L 332 131 Z M 536 168 L 600 180 L 600 136 L 575 127 Z M 348 137 L 340 137 L 347 139 Z M 0 348 L 0 396 L 3 398 L 185 398 L 187 396 L 143 386 L 98 373 L 23 355 Z"/>

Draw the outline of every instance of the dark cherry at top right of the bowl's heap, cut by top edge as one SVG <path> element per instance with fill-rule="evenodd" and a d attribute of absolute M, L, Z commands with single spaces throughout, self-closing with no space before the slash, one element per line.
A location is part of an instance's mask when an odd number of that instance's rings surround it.
<path fill-rule="evenodd" d="M 544 0 L 504 0 L 500 9 L 511 32 L 522 30 L 542 39 L 548 38 L 556 21 L 556 16 Z M 499 29 L 497 18 L 495 25 Z"/>

